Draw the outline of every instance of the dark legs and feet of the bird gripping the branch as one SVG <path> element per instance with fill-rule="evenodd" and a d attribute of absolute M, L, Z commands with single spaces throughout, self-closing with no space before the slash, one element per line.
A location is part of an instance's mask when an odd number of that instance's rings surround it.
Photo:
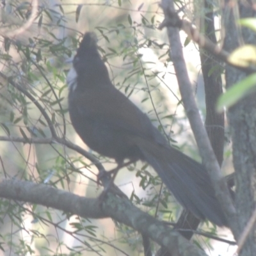
<path fill-rule="evenodd" d="M 102 200 L 102 198 L 104 198 L 104 196 L 106 196 L 109 189 L 114 184 L 114 180 L 116 178 L 118 171 L 125 166 L 129 166 L 132 163 L 134 163 L 134 160 L 130 160 L 127 163 L 118 163 L 116 168 L 114 168 L 113 170 L 110 170 L 109 172 L 99 173 L 99 175 L 97 177 L 97 182 L 99 183 L 99 180 L 100 180 L 102 182 L 102 185 L 104 186 L 104 190 L 102 191 L 102 193 L 99 196 L 101 200 Z M 113 176 L 111 177 L 112 173 L 113 173 Z M 115 193 L 115 191 L 116 191 L 116 189 L 113 190 L 114 193 Z M 117 194 L 120 195 L 120 193 L 117 193 Z"/>

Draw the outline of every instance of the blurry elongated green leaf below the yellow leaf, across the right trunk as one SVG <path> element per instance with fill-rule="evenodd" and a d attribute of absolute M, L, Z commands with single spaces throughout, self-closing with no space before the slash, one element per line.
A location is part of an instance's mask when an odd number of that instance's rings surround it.
<path fill-rule="evenodd" d="M 230 108 L 238 100 L 248 95 L 252 88 L 256 86 L 256 73 L 244 78 L 242 81 L 234 84 L 226 93 L 220 96 L 217 103 L 217 111 L 221 112 L 224 107 Z"/>

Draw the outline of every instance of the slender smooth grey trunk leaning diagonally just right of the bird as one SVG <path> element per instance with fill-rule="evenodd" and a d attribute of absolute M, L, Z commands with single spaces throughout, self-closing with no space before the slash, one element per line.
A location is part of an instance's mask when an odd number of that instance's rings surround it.
<path fill-rule="evenodd" d="M 170 10 L 173 10 L 174 12 L 174 5 L 171 0 L 162 0 L 161 6 L 165 17 L 168 17 Z M 236 221 L 236 210 L 228 192 L 227 184 L 221 175 L 220 166 L 216 160 L 207 132 L 205 131 L 204 124 L 200 117 L 200 113 L 196 106 L 193 89 L 189 81 L 188 71 L 182 55 L 179 30 L 177 28 L 168 27 L 167 32 L 170 41 L 170 54 L 172 56 L 173 65 L 177 75 L 184 108 L 186 109 L 191 129 L 195 135 L 195 140 L 200 150 L 203 163 L 211 176 L 216 196 L 228 216 L 228 223 L 230 224 L 230 227 L 232 227 L 232 223 Z"/>

